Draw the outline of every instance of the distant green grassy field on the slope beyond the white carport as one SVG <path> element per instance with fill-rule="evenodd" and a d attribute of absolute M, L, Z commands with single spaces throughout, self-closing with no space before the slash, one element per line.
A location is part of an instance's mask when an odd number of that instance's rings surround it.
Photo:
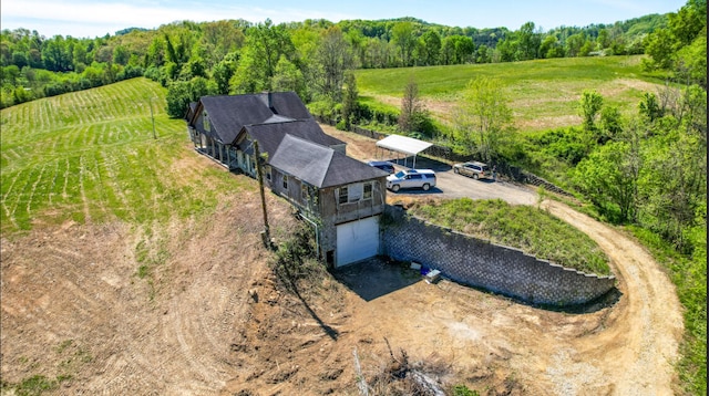
<path fill-rule="evenodd" d="M 357 87 L 399 107 L 405 84 L 413 79 L 422 98 L 441 104 L 429 108 L 450 122 L 449 107 L 458 93 L 476 76 L 497 79 L 508 93 L 510 107 L 521 131 L 579 125 L 576 103 L 584 90 L 596 90 L 607 104 L 621 112 L 636 112 L 644 92 L 661 86 L 657 76 L 644 73 L 639 55 L 564 58 L 526 62 L 465 64 L 357 71 Z M 393 100 L 398 98 L 398 100 Z"/>

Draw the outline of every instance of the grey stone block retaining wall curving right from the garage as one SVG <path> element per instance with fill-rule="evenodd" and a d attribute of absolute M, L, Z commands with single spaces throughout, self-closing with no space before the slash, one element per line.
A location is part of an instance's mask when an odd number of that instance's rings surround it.
<path fill-rule="evenodd" d="M 388 206 L 392 221 L 382 225 L 382 252 L 415 261 L 459 283 L 534 304 L 575 305 L 595 300 L 616 283 L 615 277 L 586 274 L 546 260 L 412 217 Z"/>

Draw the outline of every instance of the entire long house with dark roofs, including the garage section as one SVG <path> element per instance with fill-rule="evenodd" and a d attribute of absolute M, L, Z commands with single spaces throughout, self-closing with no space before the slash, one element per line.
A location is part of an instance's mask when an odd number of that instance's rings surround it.
<path fill-rule="evenodd" d="M 265 185 L 314 227 L 329 265 L 379 253 L 388 173 L 348 157 L 295 93 L 205 96 L 186 119 L 195 149 L 229 170 L 256 177 L 259 160 Z"/>

